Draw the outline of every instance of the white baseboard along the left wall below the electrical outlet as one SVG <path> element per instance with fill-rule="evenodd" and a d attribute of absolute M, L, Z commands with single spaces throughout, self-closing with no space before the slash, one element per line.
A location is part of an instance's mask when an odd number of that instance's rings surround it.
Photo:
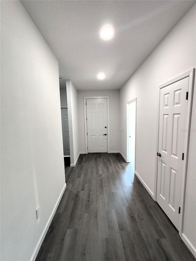
<path fill-rule="evenodd" d="M 55 207 L 54 207 L 54 209 L 52 210 L 52 213 L 51 213 L 51 215 L 50 215 L 50 217 L 49 217 L 49 219 L 48 219 L 48 221 L 47 221 L 47 224 L 46 224 L 45 228 L 43 229 L 42 235 L 40 236 L 40 239 L 39 239 L 39 241 L 38 241 L 38 243 L 37 243 L 37 245 L 36 245 L 36 248 L 35 248 L 35 250 L 34 250 L 34 252 L 33 252 L 33 254 L 32 254 L 32 257 L 31 257 L 30 261 L 35 261 L 35 260 L 36 260 L 36 256 L 37 256 L 37 254 L 38 254 L 38 252 L 39 252 L 39 250 L 40 250 L 40 247 L 41 247 L 41 245 L 42 245 L 42 242 L 43 242 L 43 240 L 44 240 L 44 237 L 46 236 L 46 233 L 47 233 L 47 231 L 48 231 L 48 229 L 49 229 L 49 226 L 50 226 L 50 224 L 51 224 L 51 222 L 52 222 L 52 219 L 53 219 L 53 217 L 54 217 L 54 215 L 55 215 L 55 212 L 56 212 L 56 210 L 57 210 L 57 208 L 58 208 L 58 205 L 59 205 L 59 203 L 60 203 L 60 201 L 61 201 L 62 195 L 63 195 L 63 193 L 64 193 L 64 191 L 65 191 L 65 189 L 66 189 L 66 186 L 67 186 L 67 184 L 65 183 L 65 185 L 64 185 L 64 187 L 63 187 L 63 189 L 62 189 L 62 191 L 61 191 L 61 193 L 60 193 L 60 195 L 59 195 L 59 197 L 58 197 L 58 200 L 57 200 L 57 202 L 56 202 L 56 204 L 55 204 Z"/>

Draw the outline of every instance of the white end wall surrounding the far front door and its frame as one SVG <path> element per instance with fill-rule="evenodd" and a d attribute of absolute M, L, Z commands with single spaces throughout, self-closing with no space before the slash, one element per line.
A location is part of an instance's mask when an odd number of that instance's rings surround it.
<path fill-rule="evenodd" d="M 110 151 L 120 149 L 120 107 L 119 90 L 78 91 L 78 126 L 79 150 L 85 152 L 85 122 L 84 122 L 84 96 L 109 96 L 110 97 Z"/>

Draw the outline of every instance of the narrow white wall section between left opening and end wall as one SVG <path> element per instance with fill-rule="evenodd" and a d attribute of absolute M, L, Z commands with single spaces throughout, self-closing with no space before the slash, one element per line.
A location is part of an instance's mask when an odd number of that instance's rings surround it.
<path fill-rule="evenodd" d="M 70 135 L 70 166 L 74 167 L 79 156 L 77 89 L 70 80 L 66 80 L 66 89 Z"/>

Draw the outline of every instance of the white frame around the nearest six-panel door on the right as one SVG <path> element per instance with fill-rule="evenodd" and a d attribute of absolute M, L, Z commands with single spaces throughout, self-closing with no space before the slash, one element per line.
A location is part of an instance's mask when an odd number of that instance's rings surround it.
<path fill-rule="evenodd" d="M 159 148 L 159 107 L 160 107 L 160 89 L 164 88 L 176 81 L 180 81 L 186 77 L 189 77 L 189 86 L 188 86 L 188 101 L 187 101 L 187 121 L 186 121 L 186 130 L 190 129 L 190 120 L 191 120 L 191 112 L 192 112 L 192 103 L 193 103 L 193 88 L 194 88 L 194 74 L 195 69 L 184 73 L 171 81 L 168 81 L 160 86 L 158 86 L 158 104 L 157 104 L 157 122 L 156 122 L 156 153 Z M 185 98 L 185 97 L 184 97 Z M 184 219 L 184 201 L 185 201 L 185 189 L 186 189 L 186 177 L 187 177 L 187 160 L 188 160 L 188 149 L 189 149 L 189 138 L 190 133 L 187 131 L 185 133 L 185 147 L 184 147 L 184 164 L 183 164 L 183 172 L 182 172 L 182 192 L 181 192 L 181 211 L 180 211 L 180 223 L 179 223 L 179 235 L 182 235 L 183 231 L 183 219 Z M 158 174 L 158 156 L 156 155 L 155 160 L 155 182 L 154 182 L 154 197 L 153 199 L 156 201 L 156 191 L 157 191 L 157 174 Z"/>

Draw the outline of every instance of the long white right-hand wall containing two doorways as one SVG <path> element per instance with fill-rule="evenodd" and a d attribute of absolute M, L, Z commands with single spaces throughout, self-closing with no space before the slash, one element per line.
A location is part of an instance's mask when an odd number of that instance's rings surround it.
<path fill-rule="evenodd" d="M 120 90 L 121 127 L 126 130 L 126 102 L 137 97 L 136 172 L 154 193 L 156 156 L 157 86 L 195 68 L 196 6 L 179 21 Z M 191 129 L 195 126 L 195 97 Z M 183 233 L 196 248 L 196 132 L 190 133 Z M 121 152 L 126 157 L 126 132 Z"/>

